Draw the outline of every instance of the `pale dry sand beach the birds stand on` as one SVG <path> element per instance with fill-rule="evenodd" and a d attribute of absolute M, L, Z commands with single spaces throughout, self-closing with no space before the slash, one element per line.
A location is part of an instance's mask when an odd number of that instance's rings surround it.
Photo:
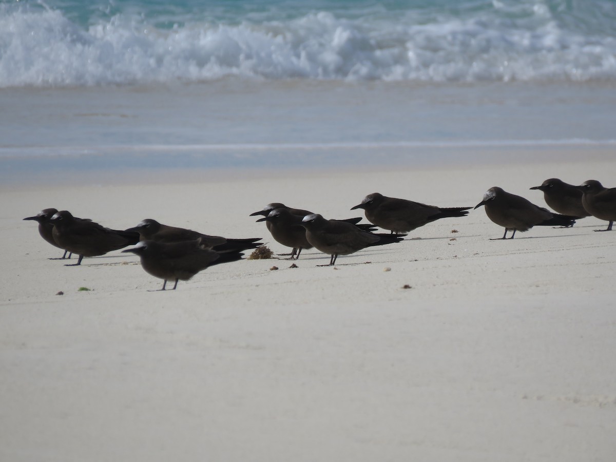
<path fill-rule="evenodd" d="M 2 188 L 0 460 L 614 461 L 606 222 L 491 241 L 481 208 L 336 267 L 304 251 L 156 292 L 132 254 L 65 267 L 21 221 L 155 218 L 279 253 L 248 216 L 272 201 L 347 218 L 371 192 L 474 206 L 498 185 L 545 206 L 529 187 L 549 177 L 614 186 L 616 163 Z"/>

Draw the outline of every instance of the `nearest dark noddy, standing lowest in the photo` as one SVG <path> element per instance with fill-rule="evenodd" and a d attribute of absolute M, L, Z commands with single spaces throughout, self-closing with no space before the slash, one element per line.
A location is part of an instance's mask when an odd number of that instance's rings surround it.
<path fill-rule="evenodd" d="M 211 265 L 236 261 L 243 256 L 241 249 L 225 252 L 212 250 L 202 238 L 171 243 L 145 240 L 123 252 L 138 255 L 145 272 L 164 279 L 161 290 L 165 290 L 168 280 L 175 280 L 172 290 L 176 290 L 179 280 L 187 281 Z"/>

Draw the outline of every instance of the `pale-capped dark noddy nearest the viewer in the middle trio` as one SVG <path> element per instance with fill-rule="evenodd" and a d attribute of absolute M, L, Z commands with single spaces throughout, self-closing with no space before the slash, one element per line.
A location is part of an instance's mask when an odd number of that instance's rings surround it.
<path fill-rule="evenodd" d="M 307 215 L 302 219 L 306 228 L 306 239 L 310 245 L 331 255 L 331 266 L 338 255 L 349 255 L 375 245 L 386 245 L 402 241 L 405 235 L 370 233 L 356 225 L 339 220 L 328 220 L 320 214 Z"/>

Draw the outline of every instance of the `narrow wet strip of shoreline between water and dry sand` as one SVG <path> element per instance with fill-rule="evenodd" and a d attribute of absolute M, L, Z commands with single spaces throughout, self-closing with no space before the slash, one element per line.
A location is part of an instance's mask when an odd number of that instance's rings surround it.
<path fill-rule="evenodd" d="M 170 161 L 169 156 L 161 155 L 166 164 L 156 166 L 156 161 L 145 166 L 147 155 L 135 154 L 131 161 L 124 160 L 126 165 L 111 165 L 105 161 L 105 156 L 37 156 L 16 160 L 0 158 L 0 164 L 5 163 L 5 169 L 0 174 L 2 183 L 0 190 L 18 188 L 26 190 L 34 185 L 52 187 L 56 184 L 71 182 L 74 185 L 87 184 L 131 184 L 134 182 L 200 182 L 228 181 L 232 179 L 265 179 L 267 177 L 299 176 L 311 177 L 327 172 L 357 173 L 378 172 L 387 174 L 393 171 L 434 171 L 447 169 L 497 168 L 533 164 L 538 168 L 548 169 L 549 164 L 587 162 L 608 163 L 614 157 L 615 148 L 611 145 L 537 145 L 528 147 L 433 147 L 422 150 L 378 149 L 366 148 L 362 153 L 351 150 L 320 150 L 315 156 L 309 149 L 306 156 L 298 160 L 286 159 L 286 153 L 280 156 L 270 155 L 269 161 L 259 162 L 259 157 L 249 165 L 241 165 L 245 160 L 238 160 L 239 166 L 233 166 L 233 161 L 217 166 L 207 160 L 207 156 L 187 155 Z M 312 166 L 308 158 L 314 158 Z M 92 161 L 95 161 L 92 163 Z M 139 161 L 139 162 L 135 162 Z M 10 166 L 14 162 L 15 165 Z M 120 161 L 121 162 L 121 161 Z M 40 163 L 39 165 L 37 163 Z M 188 163 L 188 164 L 187 164 Z M 8 164 L 8 165 L 7 165 Z M 152 166 L 153 164 L 153 166 Z"/>

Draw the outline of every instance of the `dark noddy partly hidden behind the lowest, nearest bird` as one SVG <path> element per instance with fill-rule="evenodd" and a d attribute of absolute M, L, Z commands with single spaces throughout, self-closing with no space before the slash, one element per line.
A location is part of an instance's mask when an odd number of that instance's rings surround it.
<path fill-rule="evenodd" d="M 219 252 L 225 251 L 225 249 L 235 251 L 240 247 L 242 250 L 255 249 L 261 245 L 261 243 L 256 242 L 261 240 L 260 237 L 248 239 L 228 239 L 222 236 L 209 236 L 193 231 L 192 229 L 163 225 L 151 218 L 142 220 L 136 227 L 129 228 L 128 230 L 139 233 L 139 240 L 142 241 L 171 243 L 201 239 L 202 245 L 205 245 L 208 248 L 213 248 Z"/>

